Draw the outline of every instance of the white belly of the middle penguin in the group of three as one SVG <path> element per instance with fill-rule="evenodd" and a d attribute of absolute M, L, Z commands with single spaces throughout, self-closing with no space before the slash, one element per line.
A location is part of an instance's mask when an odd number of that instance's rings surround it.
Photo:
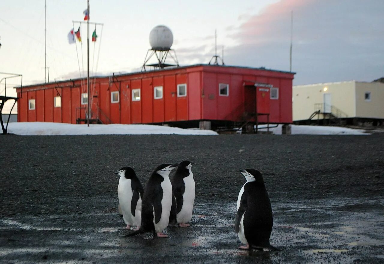
<path fill-rule="evenodd" d="M 170 183 L 169 177 L 164 178 L 164 181 L 161 183 L 161 188 L 163 189 L 163 198 L 161 199 L 160 221 L 156 224 L 155 218 L 153 219 L 157 233 L 162 232 L 168 226 L 169 222 L 170 208 L 172 206 L 172 185 Z"/>

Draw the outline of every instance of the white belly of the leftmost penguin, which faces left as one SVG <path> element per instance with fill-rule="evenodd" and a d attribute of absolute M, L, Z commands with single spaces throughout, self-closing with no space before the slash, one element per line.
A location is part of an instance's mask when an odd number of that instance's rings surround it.
<path fill-rule="evenodd" d="M 129 225 L 134 224 L 134 217 L 131 213 L 132 194 L 131 180 L 120 178 L 118 186 L 119 203 L 124 222 Z"/>

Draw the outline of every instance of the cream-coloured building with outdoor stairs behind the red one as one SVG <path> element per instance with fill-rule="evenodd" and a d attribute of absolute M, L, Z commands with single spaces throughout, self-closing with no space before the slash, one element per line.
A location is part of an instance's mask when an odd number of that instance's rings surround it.
<path fill-rule="evenodd" d="M 296 85 L 292 88 L 293 121 L 315 112 L 342 119 L 384 120 L 384 83 L 345 81 Z M 322 118 L 322 117 L 321 117 Z"/>

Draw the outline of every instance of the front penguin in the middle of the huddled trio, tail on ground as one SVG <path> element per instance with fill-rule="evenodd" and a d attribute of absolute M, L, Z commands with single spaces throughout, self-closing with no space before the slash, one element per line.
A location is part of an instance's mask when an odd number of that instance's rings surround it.
<path fill-rule="evenodd" d="M 172 205 L 172 185 L 169 180 L 169 173 L 177 165 L 179 164 L 162 164 L 152 172 L 144 189 L 141 227 L 127 236 L 152 232 L 154 237 L 168 237 L 162 231 L 168 226 Z"/>

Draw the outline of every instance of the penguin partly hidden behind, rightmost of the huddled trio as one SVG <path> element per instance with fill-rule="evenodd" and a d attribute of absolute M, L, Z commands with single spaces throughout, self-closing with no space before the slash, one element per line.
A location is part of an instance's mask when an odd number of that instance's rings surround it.
<path fill-rule="evenodd" d="M 195 202 L 195 181 L 191 171 L 193 162 L 185 160 L 179 164 L 172 178 L 172 209 L 169 217 L 170 224 L 190 226 L 192 210 Z"/>

